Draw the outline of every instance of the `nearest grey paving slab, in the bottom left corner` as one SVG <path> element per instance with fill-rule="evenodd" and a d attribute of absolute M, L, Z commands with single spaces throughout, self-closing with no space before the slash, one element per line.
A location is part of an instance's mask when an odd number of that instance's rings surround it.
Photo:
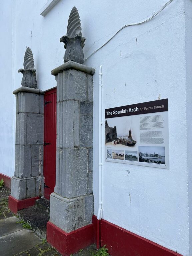
<path fill-rule="evenodd" d="M 41 239 L 31 230 L 22 229 L 0 237 L 0 255 L 13 256 L 41 244 Z"/>

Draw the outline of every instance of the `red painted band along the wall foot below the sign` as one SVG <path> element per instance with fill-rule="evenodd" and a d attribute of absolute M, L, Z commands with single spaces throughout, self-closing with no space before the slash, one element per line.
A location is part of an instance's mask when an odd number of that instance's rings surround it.
<path fill-rule="evenodd" d="M 96 219 L 93 216 L 93 219 Z M 101 246 L 112 256 L 182 256 L 106 220 L 101 220 Z"/>

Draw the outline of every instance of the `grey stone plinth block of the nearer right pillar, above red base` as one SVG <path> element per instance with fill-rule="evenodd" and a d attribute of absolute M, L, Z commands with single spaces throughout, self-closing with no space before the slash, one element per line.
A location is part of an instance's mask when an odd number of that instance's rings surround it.
<path fill-rule="evenodd" d="M 68 199 L 56 193 L 50 196 L 50 222 L 69 233 L 92 223 L 93 195 Z"/>

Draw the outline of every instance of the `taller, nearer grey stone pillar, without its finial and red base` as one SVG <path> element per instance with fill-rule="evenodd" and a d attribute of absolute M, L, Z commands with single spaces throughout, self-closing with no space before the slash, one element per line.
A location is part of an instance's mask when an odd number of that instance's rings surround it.
<path fill-rule="evenodd" d="M 51 72 L 57 81 L 57 153 L 50 222 L 66 232 L 92 223 L 94 72 L 73 61 Z"/>

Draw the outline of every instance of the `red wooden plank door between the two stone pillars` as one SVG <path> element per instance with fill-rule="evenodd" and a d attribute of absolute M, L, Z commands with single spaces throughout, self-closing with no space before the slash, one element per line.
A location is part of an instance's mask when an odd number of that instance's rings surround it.
<path fill-rule="evenodd" d="M 44 95 L 44 197 L 54 192 L 56 171 L 56 93 L 57 88 Z"/>

